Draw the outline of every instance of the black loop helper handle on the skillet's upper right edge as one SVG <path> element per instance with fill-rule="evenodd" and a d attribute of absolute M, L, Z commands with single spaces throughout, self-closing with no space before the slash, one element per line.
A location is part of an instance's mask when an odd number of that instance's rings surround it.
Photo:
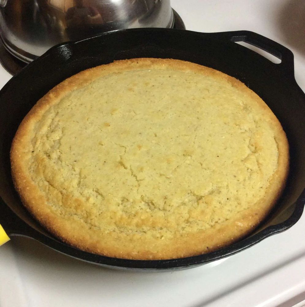
<path fill-rule="evenodd" d="M 275 64 L 285 73 L 286 76 L 294 78 L 293 53 L 283 45 L 251 31 L 230 31 L 215 33 L 217 38 L 230 40 L 232 42 L 243 41 L 255 47 L 258 47 L 281 60 L 281 63 Z"/>

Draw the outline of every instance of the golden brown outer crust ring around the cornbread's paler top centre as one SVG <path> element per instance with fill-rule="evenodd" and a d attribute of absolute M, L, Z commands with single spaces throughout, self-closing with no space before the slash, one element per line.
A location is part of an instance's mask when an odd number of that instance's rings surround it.
<path fill-rule="evenodd" d="M 131 239 L 124 232 L 105 231 L 74 215 L 61 215 L 52 206 L 47 206 L 47 196 L 32 180 L 25 161 L 31 153 L 25 148 L 32 143 L 32 131 L 37 122 L 51 107 L 57 105 L 70 92 L 81 89 L 92 80 L 113 72 L 124 72 L 133 69 L 174 69 L 195 72 L 212 76 L 218 80 L 230 82 L 232 87 L 244 93 L 247 99 L 254 101 L 264 113 L 264 120 L 273 127 L 274 139 L 278 149 L 277 169 L 269 181 L 268 192 L 254 206 L 240 211 L 234 218 L 213 227 L 196 232 L 176 233 L 163 238 L 151 239 L 145 235 L 136 235 Z M 223 82 L 223 81 L 221 81 Z M 78 73 L 54 87 L 41 98 L 21 122 L 13 139 L 11 148 L 11 167 L 13 181 L 23 204 L 39 222 L 51 233 L 64 242 L 82 250 L 117 258 L 128 259 L 170 259 L 198 255 L 216 250 L 244 237 L 265 218 L 273 208 L 284 188 L 289 165 L 288 141 L 276 117 L 269 107 L 240 81 L 214 69 L 194 63 L 167 59 L 132 59 L 115 61 L 114 63 L 90 68 Z M 49 187 L 51 189 L 51 187 Z M 76 201 L 77 202 L 77 201 Z M 102 239 L 101 239 L 102 238 Z M 139 250 L 135 251 L 135 242 Z"/>

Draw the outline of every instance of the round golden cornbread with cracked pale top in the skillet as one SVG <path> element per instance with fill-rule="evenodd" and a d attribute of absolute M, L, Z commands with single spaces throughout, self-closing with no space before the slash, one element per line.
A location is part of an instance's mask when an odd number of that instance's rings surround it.
<path fill-rule="evenodd" d="M 171 59 L 115 61 L 49 91 L 21 122 L 12 176 L 64 242 L 128 259 L 242 238 L 283 190 L 286 135 L 240 81 Z"/>

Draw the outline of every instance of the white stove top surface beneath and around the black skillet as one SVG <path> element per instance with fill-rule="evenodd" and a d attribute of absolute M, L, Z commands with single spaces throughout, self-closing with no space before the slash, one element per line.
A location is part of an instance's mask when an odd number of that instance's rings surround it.
<path fill-rule="evenodd" d="M 288 47 L 305 91 L 303 0 L 171 0 L 188 30 L 250 30 Z M 10 75 L 0 68 L 0 87 Z M 289 230 L 227 259 L 162 273 L 115 271 L 28 238 L 0 247 L 0 307 L 305 306 L 305 214 Z M 302 302 L 303 301 L 303 302 Z"/>

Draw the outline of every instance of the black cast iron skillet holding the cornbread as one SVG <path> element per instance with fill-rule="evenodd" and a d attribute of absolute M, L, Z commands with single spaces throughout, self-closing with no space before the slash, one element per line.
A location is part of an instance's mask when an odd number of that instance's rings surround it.
<path fill-rule="evenodd" d="M 245 41 L 281 59 L 274 64 L 234 42 Z M 287 134 L 290 173 L 283 196 L 268 218 L 245 239 L 226 248 L 172 260 L 126 260 L 103 257 L 68 246 L 29 215 L 14 190 L 9 151 L 23 117 L 52 87 L 86 68 L 113 60 L 156 57 L 188 60 L 238 78 L 269 105 Z M 173 29 L 131 29 L 53 47 L 26 66 L 0 91 L 0 223 L 8 235 L 23 235 L 66 255 L 111 268 L 183 269 L 242 251 L 295 224 L 305 204 L 305 95 L 294 79 L 292 52 L 249 31 L 196 33 Z M 276 251 L 275 251 L 276 252 Z"/>

